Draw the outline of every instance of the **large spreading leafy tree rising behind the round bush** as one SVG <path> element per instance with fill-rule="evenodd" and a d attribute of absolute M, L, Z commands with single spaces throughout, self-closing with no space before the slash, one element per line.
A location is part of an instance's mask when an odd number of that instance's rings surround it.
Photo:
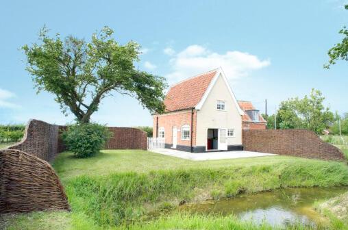
<path fill-rule="evenodd" d="M 135 68 L 140 46 L 136 42 L 121 45 L 114 31 L 104 27 L 92 34 L 90 42 L 40 31 L 39 43 L 22 47 L 27 56 L 27 71 L 38 92 L 55 94 L 64 114 L 70 110 L 80 123 L 89 123 L 101 100 L 112 92 L 135 97 L 150 112 L 163 112 L 163 77 Z"/>

